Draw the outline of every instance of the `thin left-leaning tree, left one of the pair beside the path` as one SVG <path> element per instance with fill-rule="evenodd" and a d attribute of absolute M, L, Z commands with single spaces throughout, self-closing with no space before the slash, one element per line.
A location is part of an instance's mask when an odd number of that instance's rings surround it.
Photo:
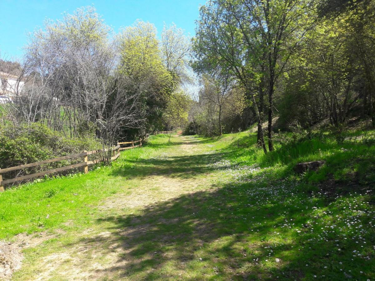
<path fill-rule="evenodd" d="M 236 4 L 239 4 L 238 1 Z M 229 1 L 215 0 L 201 6 L 193 38 L 193 69 L 204 74 L 219 67 L 240 82 L 247 98 L 252 101 L 258 121 L 258 142 L 266 153 L 262 127 L 263 94 L 257 91 L 261 77 L 257 72 L 259 64 L 252 55 L 254 50 L 246 47 L 230 5 Z"/>

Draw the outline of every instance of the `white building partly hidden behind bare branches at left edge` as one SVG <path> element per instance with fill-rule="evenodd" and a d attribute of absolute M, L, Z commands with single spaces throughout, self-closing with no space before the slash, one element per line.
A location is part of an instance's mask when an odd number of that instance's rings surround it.
<path fill-rule="evenodd" d="M 0 103 L 12 102 L 24 83 L 18 76 L 0 71 Z"/>

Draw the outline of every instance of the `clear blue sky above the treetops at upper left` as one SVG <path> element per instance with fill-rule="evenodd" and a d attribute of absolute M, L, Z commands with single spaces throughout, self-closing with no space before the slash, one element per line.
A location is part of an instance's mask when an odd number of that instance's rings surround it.
<path fill-rule="evenodd" d="M 159 33 L 163 22 L 174 22 L 193 36 L 199 4 L 204 3 L 205 0 L 0 0 L 0 55 L 8 59 L 21 57 L 26 34 L 41 27 L 45 18 L 61 19 L 63 12 L 72 13 L 89 5 L 95 6 L 114 31 L 142 19 L 155 24 Z"/>

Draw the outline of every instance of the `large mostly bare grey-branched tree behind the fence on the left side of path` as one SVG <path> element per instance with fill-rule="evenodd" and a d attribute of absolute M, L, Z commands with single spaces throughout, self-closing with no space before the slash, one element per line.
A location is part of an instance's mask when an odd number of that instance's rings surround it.
<path fill-rule="evenodd" d="M 63 132 L 68 123 L 71 134 L 92 126 L 103 148 L 117 141 L 120 128 L 138 127 L 141 92 L 115 71 L 110 31 L 93 7 L 46 21 L 26 46 L 26 82 L 13 112 Z M 104 159 L 110 159 L 109 149 Z"/>

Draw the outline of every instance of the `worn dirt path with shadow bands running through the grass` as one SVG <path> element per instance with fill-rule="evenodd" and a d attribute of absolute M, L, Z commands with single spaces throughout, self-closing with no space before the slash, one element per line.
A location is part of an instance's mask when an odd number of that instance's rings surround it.
<path fill-rule="evenodd" d="M 35 245 L 35 252 L 30 254 L 30 259 L 26 258 L 14 279 L 118 280 L 129 277 L 133 280 L 130 276 L 140 268 L 146 275 L 154 270 L 152 265 L 145 269 L 143 266 L 153 256 L 172 259 L 174 250 L 163 252 L 160 249 L 168 241 L 177 239 L 171 233 L 178 229 L 183 208 L 190 206 L 174 210 L 181 215 L 172 218 L 165 213 L 165 207 L 189 194 L 214 190 L 212 183 L 217 179 L 217 173 L 207 168 L 212 158 L 207 145 L 189 136 L 173 138 L 174 147 L 161 149 L 157 157 L 147 163 L 148 173 L 132 179 L 134 187 L 124 186 L 123 193 L 101 203 L 93 227 L 62 233 L 46 241 L 41 239 L 41 244 Z M 46 250 L 45 247 L 51 248 Z"/>

